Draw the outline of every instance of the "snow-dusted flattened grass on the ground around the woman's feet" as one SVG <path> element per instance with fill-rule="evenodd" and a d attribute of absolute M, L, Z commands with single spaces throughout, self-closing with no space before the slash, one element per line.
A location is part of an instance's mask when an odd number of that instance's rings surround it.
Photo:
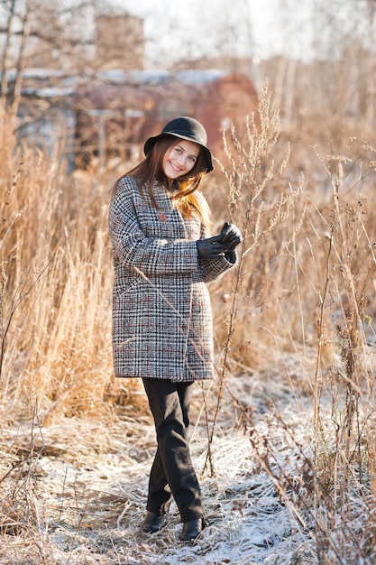
<path fill-rule="evenodd" d="M 29 551 L 44 552 L 45 562 L 56 565 L 315 563 L 312 541 L 289 504 L 280 500 L 250 441 L 252 420 L 254 431 L 270 441 L 280 466 L 293 473 L 298 457 L 295 440 L 307 444 L 309 409 L 304 398 L 298 405 L 286 384 L 262 384 L 257 393 L 253 378 L 252 390 L 250 386 L 249 377 L 238 377 L 226 387 L 212 445 L 214 477 L 207 471 L 201 474 L 207 434 L 197 387 L 193 415 L 198 423 L 192 427 L 191 450 L 208 517 L 197 542 L 179 542 L 175 505 L 162 532 L 141 532 L 155 440 L 150 416 L 134 419 L 128 413 L 106 421 L 69 419 L 36 433 L 34 443 L 42 440 L 44 446 L 34 491 L 41 527 L 40 539 L 31 542 Z M 216 395 L 210 394 L 214 406 Z M 250 414 L 245 425 L 234 397 Z M 277 407 L 278 418 L 269 401 Z M 24 545 L 12 543 L 0 549 L 0 563 L 10 555 L 8 562 L 28 562 L 22 560 Z"/>

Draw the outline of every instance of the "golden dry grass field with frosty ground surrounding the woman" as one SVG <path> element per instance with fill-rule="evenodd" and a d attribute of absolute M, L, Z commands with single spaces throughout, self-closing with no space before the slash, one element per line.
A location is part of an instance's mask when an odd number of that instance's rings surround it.
<path fill-rule="evenodd" d="M 225 499 L 217 497 L 220 440 L 230 452 L 243 430 L 249 454 L 241 450 L 228 496 L 233 525 L 221 514 L 189 557 L 176 545 L 177 523 L 163 538 L 124 542 L 143 512 L 153 450 L 139 382 L 112 375 L 106 215 L 111 184 L 127 167 L 68 175 L 56 155 L 17 146 L 14 112 L 2 108 L 0 562 L 151 563 L 158 551 L 170 555 L 165 563 L 232 562 L 216 544 L 224 532 L 227 542 L 236 537 L 239 516 L 251 520 L 244 489 L 255 477 L 274 489 L 276 515 L 283 507 L 291 516 L 293 550 L 282 550 L 290 563 L 372 562 L 375 149 L 356 139 L 309 149 L 309 139 L 297 157 L 296 139 L 291 148 L 281 141 L 267 86 L 256 121 L 250 116 L 245 139 L 234 130 L 226 139 L 226 161 L 204 189 L 215 226 L 230 214 L 245 237 L 239 268 L 211 286 L 218 378 L 206 398 L 209 437 L 196 454 L 210 470 L 213 514 Z M 303 401 L 304 433 L 285 411 Z M 194 408 L 205 420 L 201 397 Z M 51 473 L 59 478 L 49 492 Z M 244 562 L 256 562 L 252 543 L 242 543 Z"/>

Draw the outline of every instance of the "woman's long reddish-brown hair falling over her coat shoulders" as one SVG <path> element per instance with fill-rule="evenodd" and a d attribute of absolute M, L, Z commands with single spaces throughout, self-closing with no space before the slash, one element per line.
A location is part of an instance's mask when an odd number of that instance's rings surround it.
<path fill-rule="evenodd" d="M 163 157 L 170 147 L 179 143 L 179 138 L 174 135 L 166 134 L 160 137 L 154 144 L 146 158 L 136 165 L 131 171 L 124 174 L 124 177 L 136 179 L 140 191 L 146 191 L 151 202 L 158 208 L 154 197 L 154 189 L 157 186 L 169 187 L 170 181 L 163 171 Z M 194 167 L 187 175 L 179 177 L 173 182 L 176 192 L 172 195 L 177 208 L 183 218 L 191 218 L 194 210 L 203 221 L 206 227 L 210 227 L 210 210 L 206 204 L 206 199 L 201 194 L 195 194 L 198 186 L 206 173 L 206 160 L 203 151 L 197 156 Z M 123 177 L 121 177 L 123 178 Z M 121 179 L 119 179 L 120 181 Z M 116 191 L 118 182 L 115 183 Z"/>

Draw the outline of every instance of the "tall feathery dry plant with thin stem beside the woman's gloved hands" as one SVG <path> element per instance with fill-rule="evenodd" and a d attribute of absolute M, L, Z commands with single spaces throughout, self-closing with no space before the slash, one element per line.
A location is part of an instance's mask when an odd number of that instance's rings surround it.
<path fill-rule="evenodd" d="M 280 134 L 280 117 L 278 109 L 272 103 L 267 82 L 262 91 L 258 116 L 249 117 L 246 131 L 247 138 L 242 144 L 237 138 L 234 127 L 232 128 L 231 139 L 227 142 L 224 138 L 225 155 L 229 164 L 219 163 L 228 187 L 230 218 L 241 228 L 243 245 L 239 252 L 231 299 L 225 309 L 227 316 L 224 320 L 225 339 L 219 367 L 219 390 L 206 458 L 206 464 L 209 464 L 212 475 L 214 463 L 211 444 L 224 394 L 227 366 L 234 356 L 235 347 L 240 347 L 241 351 L 244 351 L 246 344 L 256 338 L 252 335 L 251 329 L 254 295 L 258 293 L 256 300 L 263 301 L 261 294 L 267 292 L 268 301 L 277 300 L 271 295 L 270 285 L 265 279 L 262 281 L 262 267 L 257 270 L 260 279 L 252 282 L 254 255 L 263 256 L 262 266 L 268 269 L 270 263 L 265 255 L 279 255 L 288 245 L 288 241 L 294 237 L 297 227 L 293 227 L 289 232 L 288 240 L 281 240 L 277 245 L 274 241 L 270 245 L 273 233 L 280 226 L 287 224 L 302 188 L 302 179 L 300 179 L 297 187 L 289 184 L 286 189 L 282 189 L 280 179 L 289 161 L 289 147 L 280 162 L 275 163 L 272 153 Z M 300 223 L 301 219 L 298 220 L 298 226 Z M 260 292 L 255 290 L 254 284 Z M 280 289 L 277 292 L 280 292 Z"/>

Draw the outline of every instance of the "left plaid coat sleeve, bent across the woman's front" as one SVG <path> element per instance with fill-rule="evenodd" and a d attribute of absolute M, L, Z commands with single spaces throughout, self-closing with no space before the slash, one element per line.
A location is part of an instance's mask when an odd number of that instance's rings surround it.
<path fill-rule="evenodd" d="M 145 236 L 137 218 L 133 185 L 123 180 L 111 199 L 109 232 L 115 262 L 146 275 L 195 273 L 198 266 L 195 241 Z"/>

